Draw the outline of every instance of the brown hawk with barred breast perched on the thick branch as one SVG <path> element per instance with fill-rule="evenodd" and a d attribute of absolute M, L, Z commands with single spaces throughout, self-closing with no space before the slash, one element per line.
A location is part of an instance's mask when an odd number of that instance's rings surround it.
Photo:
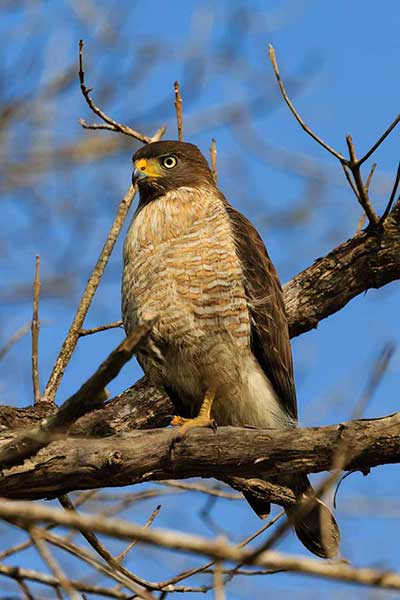
<path fill-rule="evenodd" d="M 124 244 L 123 322 L 130 334 L 138 321 L 158 317 L 138 360 L 170 396 L 173 424 L 181 436 L 213 422 L 295 427 L 282 289 L 257 231 L 193 144 L 153 142 L 133 162 L 140 200 Z M 314 554 L 335 556 L 339 529 L 306 475 L 274 481 L 290 486 L 299 504 L 311 499 L 295 531 Z M 269 514 L 268 501 L 246 499 L 262 518 Z"/>

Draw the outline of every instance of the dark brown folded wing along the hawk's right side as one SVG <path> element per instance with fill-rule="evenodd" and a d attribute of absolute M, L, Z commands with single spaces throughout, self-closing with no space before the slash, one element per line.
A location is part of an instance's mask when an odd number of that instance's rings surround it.
<path fill-rule="evenodd" d="M 287 413 L 297 419 L 292 351 L 282 287 L 253 225 L 226 202 L 248 296 L 252 351 Z"/>

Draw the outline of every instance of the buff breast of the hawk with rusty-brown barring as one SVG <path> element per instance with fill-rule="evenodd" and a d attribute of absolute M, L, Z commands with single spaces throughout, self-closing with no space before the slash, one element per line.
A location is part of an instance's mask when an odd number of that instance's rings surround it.
<path fill-rule="evenodd" d="M 157 332 L 185 351 L 215 336 L 249 343 L 243 272 L 222 200 L 181 188 L 135 215 L 124 246 L 123 318 L 158 317 Z"/>

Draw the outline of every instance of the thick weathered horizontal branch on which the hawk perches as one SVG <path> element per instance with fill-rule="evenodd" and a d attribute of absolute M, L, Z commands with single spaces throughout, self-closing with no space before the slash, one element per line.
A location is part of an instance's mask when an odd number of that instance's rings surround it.
<path fill-rule="evenodd" d="M 35 499 L 76 489 L 170 478 L 320 472 L 332 467 L 341 446 L 346 453 L 346 469 L 366 473 L 377 465 L 400 462 L 400 413 L 287 431 L 221 427 L 214 434 L 196 430 L 174 444 L 175 436 L 171 429 L 101 439 L 66 436 L 22 465 L 3 469 L 0 495 Z M 240 481 L 236 483 L 241 489 Z M 290 494 L 287 496 L 291 504 Z M 277 501 L 285 505 L 275 497 Z"/>

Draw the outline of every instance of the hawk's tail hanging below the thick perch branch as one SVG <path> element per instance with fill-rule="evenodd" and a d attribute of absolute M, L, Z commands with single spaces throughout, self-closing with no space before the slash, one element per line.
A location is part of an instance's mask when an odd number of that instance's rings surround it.
<path fill-rule="evenodd" d="M 308 477 L 306 475 L 290 476 L 290 479 L 289 477 L 274 479 L 274 483 L 290 487 L 298 498 L 298 502 L 294 506 L 286 509 L 286 514 L 301 543 L 307 550 L 321 558 L 334 558 L 339 549 L 339 527 L 326 504 L 315 496 Z M 251 496 L 249 493 L 244 495 L 256 514 L 261 519 L 267 518 L 270 512 L 270 503 L 259 497 Z"/>

